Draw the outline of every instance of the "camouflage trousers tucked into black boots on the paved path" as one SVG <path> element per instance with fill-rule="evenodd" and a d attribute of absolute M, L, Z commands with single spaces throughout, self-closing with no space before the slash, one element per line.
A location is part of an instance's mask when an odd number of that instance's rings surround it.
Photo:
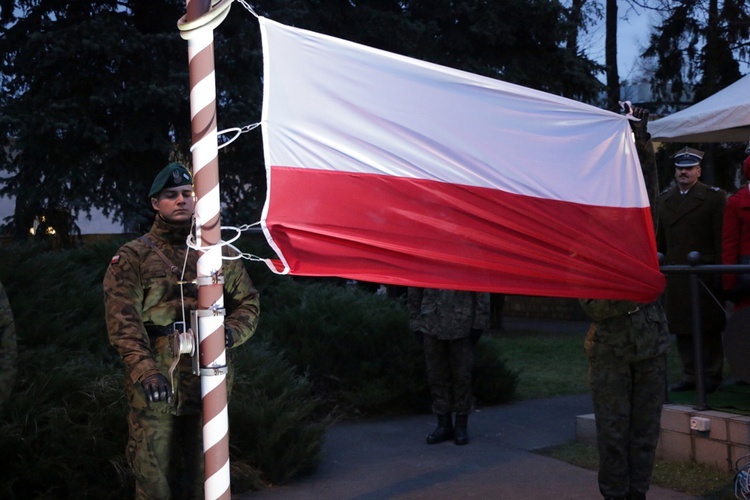
<path fill-rule="evenodd" d="M 441 340 L 424 336 L 427 383 L 432 395 L 432 412 L 436 415 L 452 412 L 468 415 L 471 411 L 473 347 L 470 337 Z"/>

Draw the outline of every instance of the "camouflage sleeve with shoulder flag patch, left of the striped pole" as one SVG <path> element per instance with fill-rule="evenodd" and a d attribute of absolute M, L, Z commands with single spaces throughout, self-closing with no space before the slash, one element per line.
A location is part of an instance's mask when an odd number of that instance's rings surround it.
<path fill-rule="evenodd" d="M 159 370 L 143 326 L 143 287 L 138 278 L 138 259 L 121 248 L 104 275 L 104 311 L 109 342 L 136 383 Z"/>

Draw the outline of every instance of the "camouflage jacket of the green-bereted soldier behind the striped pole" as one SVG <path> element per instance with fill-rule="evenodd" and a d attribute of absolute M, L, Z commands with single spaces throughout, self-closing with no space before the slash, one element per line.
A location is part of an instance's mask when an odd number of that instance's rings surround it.
<path fill-rule="evenodd" d="M 132 240 L 118 250 L 112 258 L 104 276 L 104 304 L 109 332 L 109 341 L 117 349 L 125 363 L 130 385 L 145 377 L 162 373 L 168 379 L 173 361 L 168 337 L 149 337 L 146 324 L 170 325 L 184 319 L 190 321 L 190 310 L 198 307 L 198 287 L 192 283 L 196 277 L 198 252 L 188 251 L 185 243 L 190 233 L 190 224 L 170 224 L 158 216 L 146 237 L 178 268 L 178 274 L 142 239 Z M 226 248 L 226 247 L 225 247 Z M 187 253 L 187 262 L 185 254 Z M 184 276 L 182 269 L 185 269 Z M 229 327 L 237 347 L 249 339 L 258 325 L 260 302 L 258 292 L 240 260 L 224 260 L 224 306 Z M 184 316 L 183 316 L 184 300 Z M 228 356 L 229 358 L 229 356 Z M 182 355 L 179 363 L 180 387 L 178 399 L 200 400 L 198 377 L 191 373 L 188 355 Z M 184 387 L 183 387 L 184 386 Z M 198 387 L 196 392 L 196 386 Z M 131 387 L 132 390 L 132 387 Z M 131 405 L 145 405 L 136 388 L 131 394 Z M 133 398 L 138 401 L 134 401 Z M 195 401 L 192 401 L 195 403 Z M 184 405 L 178 401 L 178 407 Z M 177 413 L 180 413 L 178 408 Z"/>

